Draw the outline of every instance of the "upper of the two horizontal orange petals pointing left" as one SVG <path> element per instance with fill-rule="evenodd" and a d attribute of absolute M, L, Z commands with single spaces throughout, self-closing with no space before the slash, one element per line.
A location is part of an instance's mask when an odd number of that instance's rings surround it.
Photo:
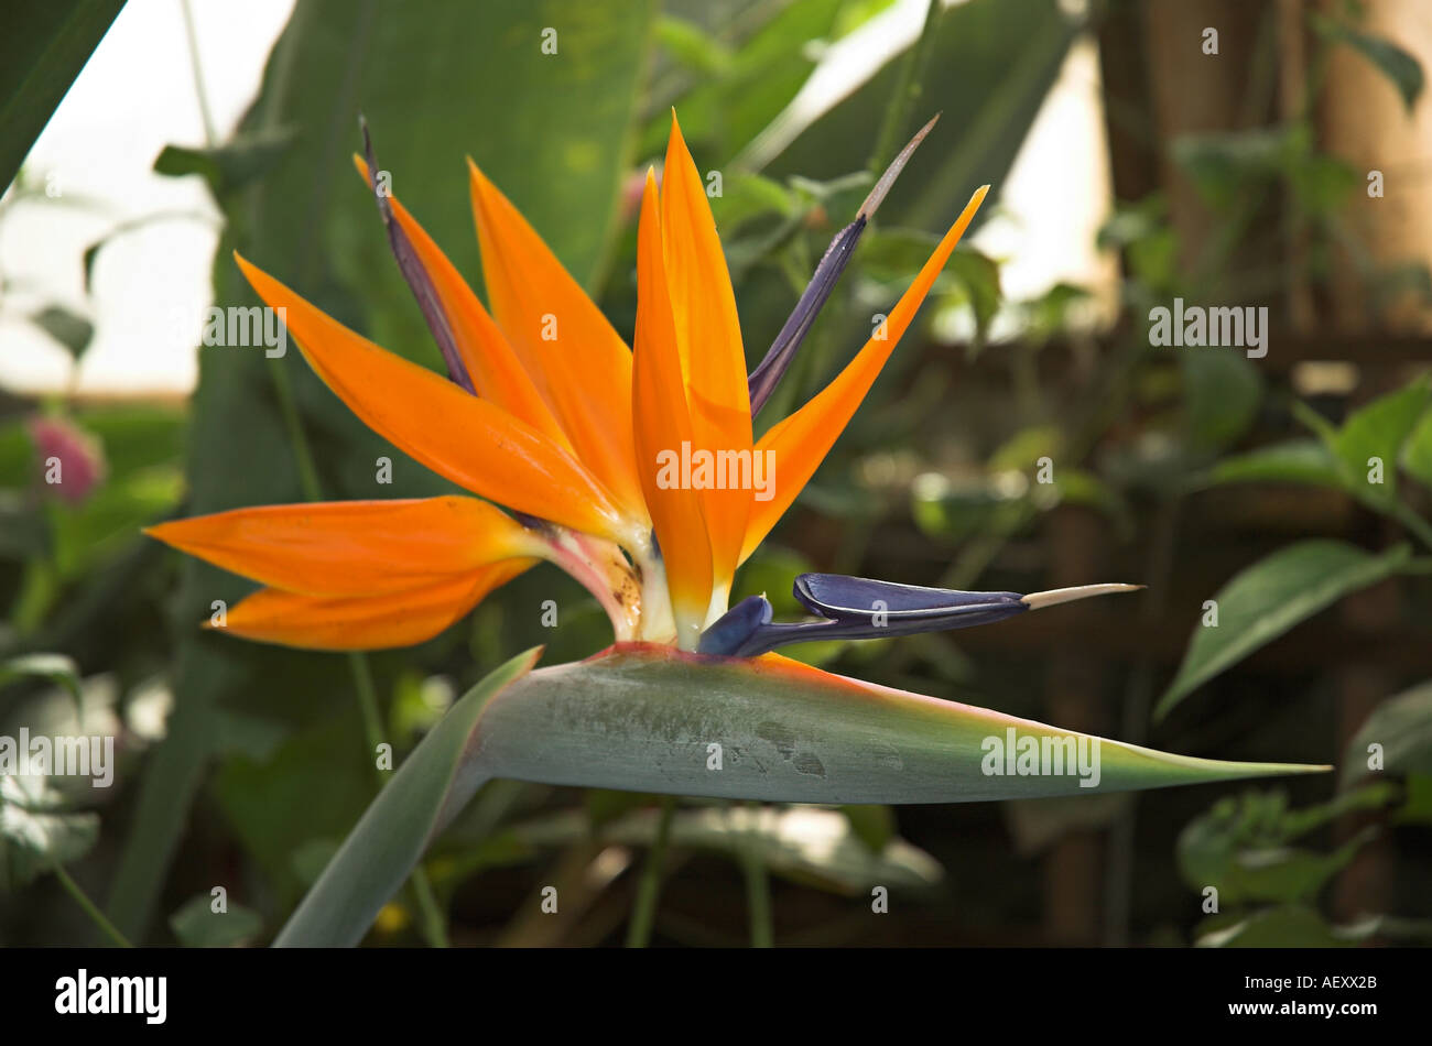
<path fill-rule="evenodd" d="M 371 595 L 527 557 L 527 529 L 477 498 L 262 505 L 145 531 L 233 574 L 304 595 Z"/>

